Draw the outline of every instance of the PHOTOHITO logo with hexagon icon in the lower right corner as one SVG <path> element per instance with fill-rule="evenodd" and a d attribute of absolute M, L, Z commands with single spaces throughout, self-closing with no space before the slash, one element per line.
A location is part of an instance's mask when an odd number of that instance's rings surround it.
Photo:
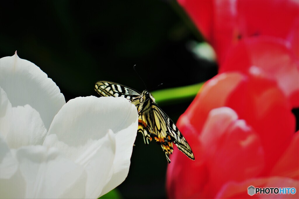
<path fill-rule="evenodd" d="M 283 187 L 283 188 L 273 188 L 273 187 L 266 187 L 266 188 L 255 188 L 254 186 L 248 187 L 248 195 L 254 194 L 295 194 L 296 189 L 294 187 Z"/>

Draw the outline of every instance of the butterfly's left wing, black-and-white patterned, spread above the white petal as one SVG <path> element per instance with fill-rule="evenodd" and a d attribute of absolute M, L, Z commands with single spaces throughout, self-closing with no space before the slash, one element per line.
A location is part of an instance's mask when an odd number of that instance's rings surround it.
<path fill-rule="evenodd" d="M 141 96 L 140 92 L 111 81 L 98 81 L 94 85 L 94 90 L 103 97 L 124 97 L 131 101 Z"/>

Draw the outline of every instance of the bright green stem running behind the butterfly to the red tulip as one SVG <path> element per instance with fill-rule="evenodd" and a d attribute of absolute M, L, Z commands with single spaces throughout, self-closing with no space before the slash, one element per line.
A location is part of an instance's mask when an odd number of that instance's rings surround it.
<path fill-rule="evenodd" d="M 152 95 L 158 104 L 174 104 L 192 99 L 196 96 L 204 82 L 183 87 L 153 91 Z"/>

